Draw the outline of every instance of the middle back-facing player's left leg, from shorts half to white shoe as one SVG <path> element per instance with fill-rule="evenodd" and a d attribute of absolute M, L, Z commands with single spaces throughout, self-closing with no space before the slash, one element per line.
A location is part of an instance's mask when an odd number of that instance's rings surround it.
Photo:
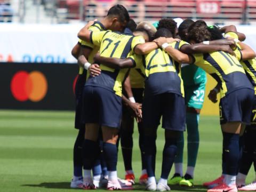
<path fill-rule="evenodd" d="M 148 174 L 146 190 L 156 190 L 156 130 L 160 123 L 161 110 L 161 97 L 159 95 L 145 94 L 142 104 L 142 120 L 144 157 Z"/>

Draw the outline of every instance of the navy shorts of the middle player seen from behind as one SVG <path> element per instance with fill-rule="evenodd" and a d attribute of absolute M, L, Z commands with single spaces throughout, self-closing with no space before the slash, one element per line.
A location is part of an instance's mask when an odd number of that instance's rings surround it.
<path fill-rule="evenodd" d="M 157 127 L 162 117 L 162 127 L 172 131 L 185 131 L 185 99 L 175 93 L 145 95 L 142 104 L 143 125 Z"/>

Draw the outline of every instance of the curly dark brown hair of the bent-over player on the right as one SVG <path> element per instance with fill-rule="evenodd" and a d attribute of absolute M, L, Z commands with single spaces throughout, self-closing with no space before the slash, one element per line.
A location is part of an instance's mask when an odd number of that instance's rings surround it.
<path fill-rule="evenodd" d="M 201 43 L 203 41 L 210 41 L 211 40 L 211 33 L 207 29 L 206 22 L 203 20 L 198 20 L 194 22 L 188 28 L 188 41 L 195 41 L 196 43 Z"/>

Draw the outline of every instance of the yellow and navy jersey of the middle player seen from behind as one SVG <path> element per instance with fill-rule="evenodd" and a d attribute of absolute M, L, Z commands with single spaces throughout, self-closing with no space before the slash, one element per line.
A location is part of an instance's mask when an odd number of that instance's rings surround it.
<path fill-rule="evenodd" d="M 179 49 L 182 44 L 173 42 L 174 49 Z M 183 81 L 181 78 L 181 64 L 174 61 L 162 49 L 156 49 L 145 55 L 146 81 L 145 95 L 175 93 L 184 97 Z"/>

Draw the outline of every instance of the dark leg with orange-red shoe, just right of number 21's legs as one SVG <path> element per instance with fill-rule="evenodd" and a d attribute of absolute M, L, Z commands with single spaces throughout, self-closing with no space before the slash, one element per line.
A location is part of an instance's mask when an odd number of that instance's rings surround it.
<path fill-rule="evenodd" d="M 129 109 L 123 106 L 123 116 L 121 123 L 121 147 L 124 159 L 125 180 L 134 184 L 134 173 L 132 170 L 132 148 L 133 148 L 133 128 L 134 121 Z"/>

